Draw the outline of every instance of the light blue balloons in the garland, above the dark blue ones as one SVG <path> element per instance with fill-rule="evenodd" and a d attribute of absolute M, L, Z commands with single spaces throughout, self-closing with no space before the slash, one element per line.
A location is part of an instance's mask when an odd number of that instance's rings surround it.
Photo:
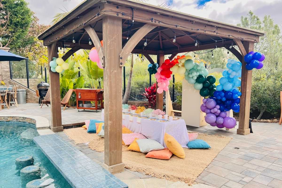
<path fill-rule="evenodd" d="M 240 87 L 241 85 L 241 80 L 238 78 L 241 77 L 242 63 L 240 61 L 228 59 L 226 67 L 228 70 L 222 72 L 223 77 L 219 79 L 220 84 L 217 85 L 216 90 L 232 91 L 233 89 L 236 89 L 239 91 L 237 87 Z"/>

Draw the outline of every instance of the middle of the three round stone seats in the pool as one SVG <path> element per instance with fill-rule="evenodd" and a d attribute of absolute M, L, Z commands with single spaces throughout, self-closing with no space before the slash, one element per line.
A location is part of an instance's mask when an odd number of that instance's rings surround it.
<path fill-rule="evenodd" d="M 36 165 L 27 166 L 21 169 L 20 175 L 22 187 L 25 187 L 27 183 L 32 180 L 40 179 L 40 174 L 40 167 Z"/>

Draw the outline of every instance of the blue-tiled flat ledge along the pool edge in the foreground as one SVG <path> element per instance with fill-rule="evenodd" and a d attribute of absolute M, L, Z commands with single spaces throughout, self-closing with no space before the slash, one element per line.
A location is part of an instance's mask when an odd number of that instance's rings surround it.
<path fill-rule="evenodd" d="M 37 136 L 33 140 L 73 188 L 128 188 L 60 135 Z"/>

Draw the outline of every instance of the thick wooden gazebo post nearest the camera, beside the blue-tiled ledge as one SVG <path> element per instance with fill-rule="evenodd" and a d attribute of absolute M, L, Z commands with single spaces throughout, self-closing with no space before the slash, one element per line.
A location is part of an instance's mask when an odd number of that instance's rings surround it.
<path fill-rule="evenodd" d="M 103 18 L 105 163 L 112 174 L 124 171 L 122 163 L 122 19 Z"/>

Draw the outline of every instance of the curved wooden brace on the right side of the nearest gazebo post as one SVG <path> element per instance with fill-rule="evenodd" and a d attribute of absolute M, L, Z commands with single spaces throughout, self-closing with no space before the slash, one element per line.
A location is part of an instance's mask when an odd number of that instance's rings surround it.
<path fill-rule="evenodd" d="M 124 66 L 124 63 L 127 57 L 132 52 L 132 50 L 135 48 L 135 46 L 139 43 L 139 41 L 155 27 L 157 26 L 147 23 L 143 27 L 138 29 L 138 31 L 136 31 L 134 35 L 127 41 L 127 43 L 125 44 L 124 48 L 122 49 L 120 53 L 120 66 L 121 67 Z"/>

